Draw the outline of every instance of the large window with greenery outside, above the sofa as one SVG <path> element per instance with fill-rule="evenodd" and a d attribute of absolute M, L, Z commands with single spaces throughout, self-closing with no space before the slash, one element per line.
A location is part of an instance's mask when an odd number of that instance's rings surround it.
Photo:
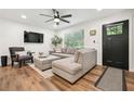
<path fill-rule="evenodd" d="M 83 48 L 84 47 L 84 30 L 78 30 L 64 36 L 65 47 L 68 48 Z"/>

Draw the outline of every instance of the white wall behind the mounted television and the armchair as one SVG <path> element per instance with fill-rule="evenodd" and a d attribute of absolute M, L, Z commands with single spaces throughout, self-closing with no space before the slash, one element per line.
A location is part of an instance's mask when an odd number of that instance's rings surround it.
<path fill-rule="evenodd" d="M 24 43 L 24 30 L 44 34 L 43 43 Z M 19 46 L 25 47 L 26 51 L 48 52 L 51 50 L 51 37 L 53 34 L 54 31 L 45 28 L 0 20 L 0 55 L 10 58 L 9 47 Z"/>

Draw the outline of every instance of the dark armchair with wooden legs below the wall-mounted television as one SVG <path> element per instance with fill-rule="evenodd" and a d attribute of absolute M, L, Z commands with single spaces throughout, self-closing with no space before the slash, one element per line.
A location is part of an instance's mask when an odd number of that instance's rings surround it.
<path fill-rule="evenodd" d="M 18 55 L 15 53 L 15 52 L 25 51 L 25 48 L 23 48 L 23 47 L 10 47 L 9 50 L 10 50 L 12 66 L 14 65 L 14 62 L 18 62 L 19 67 L 22 66 L 22 63 L 25 63 L 28 60 L 30 60 L 31 63 L 34 62 L 32 55 L 28 55 L 28 54 L 27 55 Z"/>

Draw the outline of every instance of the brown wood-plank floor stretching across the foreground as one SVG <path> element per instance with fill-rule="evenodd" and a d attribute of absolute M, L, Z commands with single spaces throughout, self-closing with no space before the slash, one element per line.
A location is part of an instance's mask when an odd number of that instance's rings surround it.
<path fill-rule="evenodd" d="M 54 75 L 43 78 L 39 73 L 29 66 L 0 67 L 0 90 L 62 90 L 62 91 L 99 91 L 94 85 L 106 67 L 96 66 L 91 72 L 71 85 L 63 78 Z M 134 91 L 134 73 L 125 72 L 126 88 Z"/>

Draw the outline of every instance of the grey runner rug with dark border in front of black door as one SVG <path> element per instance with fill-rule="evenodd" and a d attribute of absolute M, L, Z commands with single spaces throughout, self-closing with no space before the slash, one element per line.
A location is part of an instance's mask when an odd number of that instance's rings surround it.
<path fill-rule="evenodd" d="M 105 91 L 124 91 L 126 90 L 124 80 L 124 72 L 122 70 L 107 67 L 95 86 Z"/>

